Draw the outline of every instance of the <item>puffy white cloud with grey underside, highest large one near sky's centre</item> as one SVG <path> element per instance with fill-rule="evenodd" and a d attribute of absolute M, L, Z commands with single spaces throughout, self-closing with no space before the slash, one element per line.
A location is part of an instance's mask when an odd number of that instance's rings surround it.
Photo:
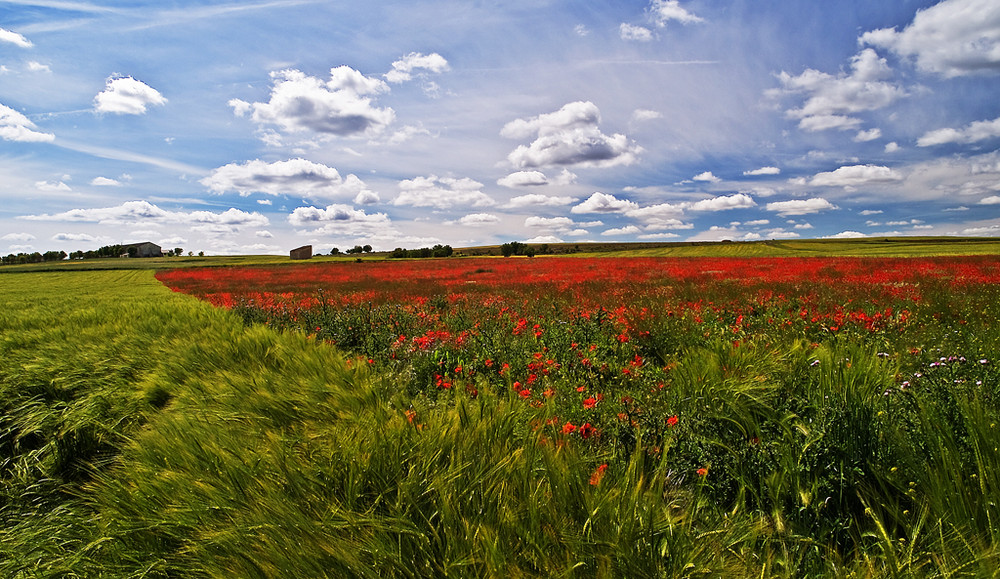
<path fill-rule="evenodd" d="M 507 160 L 518 169 L 557 165 L 613 167 L 636 162 L 642 148 L 623 134 L 608 136 L 600 131 L 600 111 L 591 102 L 572 102 L 553 113 L 516 119 L 500 131 L 511 139 L 529 139 Z"/>

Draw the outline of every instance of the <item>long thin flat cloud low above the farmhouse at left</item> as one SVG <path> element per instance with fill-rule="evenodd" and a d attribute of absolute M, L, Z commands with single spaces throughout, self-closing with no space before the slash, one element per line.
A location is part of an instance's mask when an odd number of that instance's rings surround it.
<path fill-rule="evenodd" d="M 187 225 L 221 225 L 229 228 L 244 226 L 263 227 L 267 217 L 231 208 L 221 213 L 211 211 L 167 211 L 148 201 L 126 201 L 116 207 L 96 209 L 71 209 L 62 213 L 24 215 L 18 219 L 28 221 L 65 221 L 71 223 L 99 223 L 101 225 L 131 225 L 136 223 L 172 223 Z"/>

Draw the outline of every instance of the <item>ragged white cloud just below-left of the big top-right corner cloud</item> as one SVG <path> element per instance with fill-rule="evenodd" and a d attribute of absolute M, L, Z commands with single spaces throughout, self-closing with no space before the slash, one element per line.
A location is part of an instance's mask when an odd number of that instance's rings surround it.
<path fill-rule="evenodd" d="M 799 128 L 808 132 L 857 128 L 861 120 L 850 115 L 884 108 L 906 96 L 902 87 L 886 80 L 891 74 L 885 59 L 870 48 L 851 59 L 850 73 L 831 75 L 806 69 L 791 76 L 782 71 L 778 80 L 783 91 L 806 97 L 800 108 L 785 114 L 799 119 Z"/>

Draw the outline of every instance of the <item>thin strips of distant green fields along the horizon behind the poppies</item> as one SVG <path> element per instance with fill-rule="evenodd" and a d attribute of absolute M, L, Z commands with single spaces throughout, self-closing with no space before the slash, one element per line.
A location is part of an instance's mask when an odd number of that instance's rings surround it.
<path fill-rule="evenodd" d="M 747 242 L 679 243 L 553 243 L 533 244 L 547 247 L 546 255 L 629 256 L 629 257 L 932 257 L 949 255 L 1000 255 L 1000 238 L 983 237 L 886 237 L 864 239 L 799 239 Z M 500 255 L 499 246 L 464 247 L 456 256 Z M 317 255 L 313 262 L 387 259 L 388 252 L 363 256 Z M 173 269 L 178 267 L 220 267 L 277 265 L 293 263 L 285 255 L 236 255 L 209 257 L 162 257 L 152 259 L 88 259 L 9 265 L 0 273 L 15 271 L 65 271 L 108 269 Z"/>

